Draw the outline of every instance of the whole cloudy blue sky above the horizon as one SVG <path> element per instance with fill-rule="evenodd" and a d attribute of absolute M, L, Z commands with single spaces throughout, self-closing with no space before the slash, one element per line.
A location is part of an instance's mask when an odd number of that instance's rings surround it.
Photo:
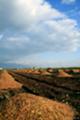
<path fill-rule="evenodd" d="M 79 5 L 80 0 L 0 0 L 0 66 L 80 66 Z"/>

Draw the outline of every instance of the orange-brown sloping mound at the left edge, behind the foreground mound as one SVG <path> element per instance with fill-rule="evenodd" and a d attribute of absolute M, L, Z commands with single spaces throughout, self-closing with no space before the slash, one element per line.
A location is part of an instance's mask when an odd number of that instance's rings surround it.
<path fill-rule="evenodd" d="M 0 72 L 0 89 L 20 88 L 22 84 L 16 82 L 6 70 Z"/>

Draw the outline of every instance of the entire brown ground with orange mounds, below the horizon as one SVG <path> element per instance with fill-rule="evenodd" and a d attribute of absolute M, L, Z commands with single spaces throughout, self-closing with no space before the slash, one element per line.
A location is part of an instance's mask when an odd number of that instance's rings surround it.
<path fill-rule="evenodd" d="M 0 103 L 0 120 L 80 120 L 80 73 L 0 71 Z"/>

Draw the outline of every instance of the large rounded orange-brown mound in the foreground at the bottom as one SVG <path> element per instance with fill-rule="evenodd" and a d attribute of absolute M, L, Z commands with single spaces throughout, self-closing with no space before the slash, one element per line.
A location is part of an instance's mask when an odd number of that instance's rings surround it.
<path fill-rule="evenodd" d="M 0 120 L 73 120 L 73 116 L 68 105 L 22 93 L 6 102 Z"/>

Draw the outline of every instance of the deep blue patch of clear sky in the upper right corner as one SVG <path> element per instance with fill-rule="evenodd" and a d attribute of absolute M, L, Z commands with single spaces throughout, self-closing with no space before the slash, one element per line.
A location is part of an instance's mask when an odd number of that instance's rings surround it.
<path fill-rule="evenodd" d="M 55 7 L 61 12 L 67 14 L 70 18 L 76 19 L 80 26 L 80 0 L 62 0 L 65 2 L 61 2 L 61 0 L 47 0 L 52 7 Z M 68 2 L 66 1 L 73 1 Z"/>

